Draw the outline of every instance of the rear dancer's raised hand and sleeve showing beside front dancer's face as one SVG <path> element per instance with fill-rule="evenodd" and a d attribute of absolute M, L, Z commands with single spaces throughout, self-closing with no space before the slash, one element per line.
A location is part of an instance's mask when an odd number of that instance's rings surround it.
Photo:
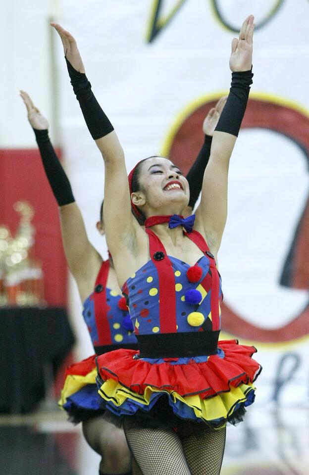
<path fill-rule="evenodd" d="M 197 202 L 198 197 L 200 196 L 202 185 L 203 185 L 204 172 L 205 172 L 205 169 L 209 160 L 209 156 L 210 156 L 212 136 L 216 128 L 216 125 L 218 123 L 220 114 L 223 110 L 223 107 L 225 106 L 226 99 L 227 99 L 226 95 L 220 97 L 215 107 L 212 107 L 208 111 L 204 119 L 204 122 L 203 122 L 204 142 L 194 164 L 190 168 L 188 175 L 186 177 L 189 183 L 189 188 L 190 188 L 190 201 L 189 201 L 188 208 L 185 212 L 186 216 L 189 216 L 192 213 L 195 203 Z"/>

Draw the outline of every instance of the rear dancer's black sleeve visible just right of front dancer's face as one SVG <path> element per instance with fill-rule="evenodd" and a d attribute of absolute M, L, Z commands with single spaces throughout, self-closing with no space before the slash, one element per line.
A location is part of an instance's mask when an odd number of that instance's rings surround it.
<path fill-rule="evenodd" d="M 212 137 L 206 135 L 202 148 L 186 177 L 189 182 L 190 189 L 189 206 L 192 209 L 194 208 L 202 190 L 204 172 L 210 156 L 211 142 Z"/>

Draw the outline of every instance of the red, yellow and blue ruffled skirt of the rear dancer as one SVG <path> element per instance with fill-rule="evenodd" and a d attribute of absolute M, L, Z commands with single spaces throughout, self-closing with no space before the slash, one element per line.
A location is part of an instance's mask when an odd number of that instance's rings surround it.
<path fill-rule="evenodd" d="M 96 384 L 96 356 L 70 365 L 65 372 L 58 404 L 76 424 L 104 413 L 104 401 Z"/>

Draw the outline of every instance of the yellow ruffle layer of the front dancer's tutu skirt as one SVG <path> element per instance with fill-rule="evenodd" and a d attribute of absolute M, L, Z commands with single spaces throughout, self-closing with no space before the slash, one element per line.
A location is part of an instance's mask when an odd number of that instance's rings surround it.
<path fill-rule="evenodd" d="M 176 400 L 179 400 L 191 407 L 198 418 L 204 421 L 212 421 L 230 416 L 236 404 L 247 400 L 246 395 L 251 389 L 256 389 L 252 383 L 240 384 L 238 387 L 231 386 L 228 392 L 222 392 L 216 396 L 202 399 L 197 394 L 182 397 L 175 391 L 156 389 L 152 386 L 147 386 L 144 394 L 138 394 L 122 386 L 119 382 L 109 379 L 103 383 L 99 389 L 99 394 L 103 399 L 112 402 L 115 406 L 121 406 L 126 399 L 132 399 L 148 406 L 153 393 L 163 392 L 169 394 L 174 403 Z"/>

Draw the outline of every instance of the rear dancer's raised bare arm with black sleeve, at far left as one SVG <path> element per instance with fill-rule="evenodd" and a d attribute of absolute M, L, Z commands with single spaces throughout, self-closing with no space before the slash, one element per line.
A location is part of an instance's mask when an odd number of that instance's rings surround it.
<path fill-rule="evenodd" d="M 20 95 L 36 136 L 47 179 L 59 206 L 66 260 L 78 285 L 81 299 L 84 300 L 93 291 L 102 257 L 88 240 L 83 217 L 75 202 L 70 182 L 51 144 L 48 121 L 34 106 L 27 93 L 21 91 Z"/>

